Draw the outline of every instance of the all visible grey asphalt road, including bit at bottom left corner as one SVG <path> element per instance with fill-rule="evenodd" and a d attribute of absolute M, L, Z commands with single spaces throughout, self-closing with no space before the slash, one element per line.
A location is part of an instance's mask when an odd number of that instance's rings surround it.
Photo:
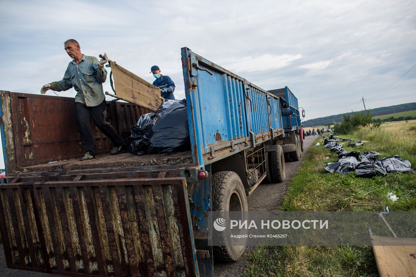
<path fill-rule="evenodd" d="M 304 149 L 300 161 L 290 162 L 285 164 L 286 169 L 286 181 L 283 183 L 276 184 L 261 184 L 252 195 L 248 197 L 248 209 L 249 210 L 278 210 L 281 207 L 283 198 L 289 180 L 295 175 L 297 170 L 300 168 L 302 161 L 305 158 L 304 153 L 312 145 L 314 138 L 307 137 L 304 141 Z M 245 250 L 245 253 L 255 250 L 254 246 L 250 246 Z M 241 276 L 247 261 L 246 255 L 240 258 L 237 262 L 233 263 L 214 263 L 214 276 Z M 0 276 L 10 277 L 58 277 L 59 275 L 52 275 L 40 272 L 31 272 L 23 270 L 12 270 L 6 267 L 6 260 L 3 251 L 3 245 L 0 244 Z"/>

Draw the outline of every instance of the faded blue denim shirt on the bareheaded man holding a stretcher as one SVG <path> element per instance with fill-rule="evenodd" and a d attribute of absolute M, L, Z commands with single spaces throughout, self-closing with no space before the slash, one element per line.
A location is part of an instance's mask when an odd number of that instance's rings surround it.
<path fill-rule="evenodd" d="M 105 99 L 102 83 L 107 77 L 107 71 L 98 65 L 96 57 L 83 54 L 78 64 L 74 60 L 69 62 L 64 78 L 50 83 L 51 89 L 62 92 L 74 87 L 77 91 L 75 102 L 89 107 L 98 106 Z"/>

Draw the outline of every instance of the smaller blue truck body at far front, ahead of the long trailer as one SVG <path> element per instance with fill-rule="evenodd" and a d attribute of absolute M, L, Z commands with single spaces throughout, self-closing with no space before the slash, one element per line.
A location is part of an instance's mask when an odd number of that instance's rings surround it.
<path fill-rule="evenodd" d="M 303 129 L 297 98 L 288 87 L 272 89 L 268 92 L 280 97 L 282 102 L 282 122 L 285 130 L 282 148 L 285 161 L 299 161 L 303 151 Z M 302 117 L 305 117 L 304 111 Z"/>

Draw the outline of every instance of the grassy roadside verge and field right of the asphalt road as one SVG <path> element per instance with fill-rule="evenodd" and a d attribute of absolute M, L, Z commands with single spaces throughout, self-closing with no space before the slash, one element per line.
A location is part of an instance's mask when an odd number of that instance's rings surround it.
<path fill-rule="evenodd" d="M 354 141 L 367 140 L 363 146 L 344 148 L 348 151 L 377 151 L 384 156 L 399 155 L 416 165 L 416 121 L 390 122 L 380 128 L 362 128 L 354 134 L 341 136 Z M 324 170 L 329 162 L 338 160 L 322 146 L 317 136 L 305 162 L 290 181 L 281 210 L 348 210 L 381 211 L 416 210 L 415 174 L 393 173 L 384 177 L 355 178 L 349 175 L 330 174 Z M 393 192 L 398 201 L 389 200 Z M 378 276 L 370 246 L 261 246 L 248 255 L 245 276 Z"/>

